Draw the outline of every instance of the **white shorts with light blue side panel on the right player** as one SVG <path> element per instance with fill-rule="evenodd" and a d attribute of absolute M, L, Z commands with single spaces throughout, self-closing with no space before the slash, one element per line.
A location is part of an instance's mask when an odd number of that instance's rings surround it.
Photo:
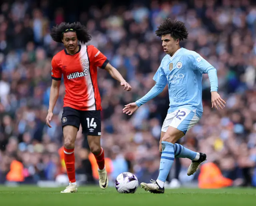
<path fill-rule="evenodd" d="M 168 113 L 162 126 L 162 132 L 166 132 L 168 127 L 174 127 L 184 134 L 189 131 L 199 121 L 199 117 L 196 116 L 195 111 L 188 109 L 177 109 L 174 112 Z"/>

